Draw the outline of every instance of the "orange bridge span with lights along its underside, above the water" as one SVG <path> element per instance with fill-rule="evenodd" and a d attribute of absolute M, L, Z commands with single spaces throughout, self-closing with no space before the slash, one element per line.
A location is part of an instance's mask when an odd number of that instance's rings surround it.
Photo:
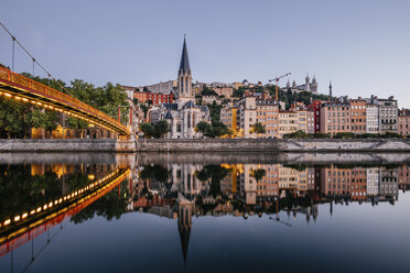
<path fill-rule="evenodd" d="M 35 80 L 0 67 L 0 95 L 48 110 L 64 112 L 119 135 L 130 135 L 127 127 L 108 114 Z"/>

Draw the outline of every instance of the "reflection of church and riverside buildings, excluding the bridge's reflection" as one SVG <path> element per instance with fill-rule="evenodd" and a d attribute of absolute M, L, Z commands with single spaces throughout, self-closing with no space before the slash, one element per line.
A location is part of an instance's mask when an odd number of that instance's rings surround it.
<path fill-rule="evenodd" d="M 169 164 L 147 165 L 139 172 L 130 208 L 177 218 L 181 249 L 187 256 L 192 217 L 271 215 L 291 227 L 298 214 L 309 225 L 319 217 L 319 204 L 380 201 L 395 205 L 399 188 L 409 188 L 409 167 L 306 166 L 283 164 Z"/>

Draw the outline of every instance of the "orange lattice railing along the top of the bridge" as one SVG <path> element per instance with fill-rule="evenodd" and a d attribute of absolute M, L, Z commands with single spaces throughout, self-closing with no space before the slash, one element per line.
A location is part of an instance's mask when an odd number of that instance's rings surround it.
<path fill-rule="evenodd" d="M 39 81 L 35 81 L 31 78 L 24 77 L 20 74 L 13 73 L 10 69 L 0 67 L 0 78 L 17 85 L 20 85 L 25 88 L 30 88 L 32 90 L 35 90 L 36 92 L 40 92 L 41 95 L 51 98 L 51 99 L 57 99 L 60 102 L 63 102 L 65 105 L 69 105 L 74 108 L 80 109 L 83 111 L 86 111 L 87 113 L 91 113 L 96 117 L 99 117 L 116 127 L 122 129 L 123 131 L 128 131 L 127 127 L 122 125 L 120 122 L 115 120 L 114 118 L 109 117 L 108 114 L 95 109 L 94 107 L 88 106 L 87 103 L 73 98 L 72 96 L 68 96 L 64 92 L 61 92 L 58 90 L 55 90 L 46 85 L 40 84 Z"/>

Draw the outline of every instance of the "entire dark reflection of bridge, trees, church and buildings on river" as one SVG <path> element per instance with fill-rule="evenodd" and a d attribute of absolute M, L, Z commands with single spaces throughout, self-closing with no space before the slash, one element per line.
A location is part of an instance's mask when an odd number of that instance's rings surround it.
<path fill-rule="evenodd" d="M 410 188 L 407 164 L 334 163 L 117 163 L 0 165 L 0 261 L 24 244 L 41 244 L 19 272 L 30 269 L 65 222 L 96 217 L 119 220 L 143 214 L 175 221 L 184 263 L 195 218 L 266 216 L 292 228 L 306 227 L 335 206 L 396 205 L 399 190 Z M 281 212 L 282 211 L 282 212 Z M 321 212 L 322 211 L 322 212 Z M 69 220 L 68 220 L 69 219 Z M 176 231 L 175 231 L 176 234 Z M 36 238 L 44 237 L 42 242 Z"/>

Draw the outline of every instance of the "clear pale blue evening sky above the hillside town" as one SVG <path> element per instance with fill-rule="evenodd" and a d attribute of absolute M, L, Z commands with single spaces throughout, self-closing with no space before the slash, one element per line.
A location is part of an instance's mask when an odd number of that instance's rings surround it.
<path fill-rule="evenodd" d="M 395 96 L 410 108 L 407 0 L 1 0 L 0 21 L 56 78 L 141 86 L 176 79 L 268 83 L 291 73 L 334 96 Z M 0 30 L 0 63 L 11 39 Z M 15 72 L 31 72 L 15 50 Z M 39 68 L 35 73 L 42 76 Z M 284 86 L 287 78 L 280 85 Z"/>

